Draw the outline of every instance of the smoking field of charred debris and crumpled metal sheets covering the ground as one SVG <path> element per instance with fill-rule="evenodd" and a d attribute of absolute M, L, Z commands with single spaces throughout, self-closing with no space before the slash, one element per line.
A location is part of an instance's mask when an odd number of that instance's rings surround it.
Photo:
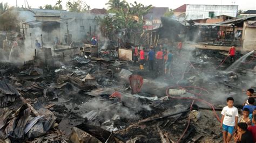
<path fill-rule="evenodd" d="M 22 65 L 2 62 L 1 141 L 221 141 L 219 110 L 227 96 L 243 101 L 242 89 L 255 85 L 254 56 L 225 71 L 226 52 L 168 48 L 170 75 L 115 53 L 86 56 L 84 48 L 69 55 L 42 48 Z"/>

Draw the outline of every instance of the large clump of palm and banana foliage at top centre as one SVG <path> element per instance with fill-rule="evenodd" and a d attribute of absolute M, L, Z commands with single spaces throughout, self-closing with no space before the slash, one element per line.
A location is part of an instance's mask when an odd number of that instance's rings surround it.
<path fill-rule="evenodd" d="M 139 39 L 139 35 L 143 31 L 143 15 L 149 13 L 152 5 L 144 6 L 137 2 L 128 4 L 119 0 L 110 0 L 106 5 L 109 5 L 109 10 L 114 13 L 114 16 L 97 18 L 103 35 L 111 39 L 113 32 L 124 32 L 123 40 L 125 41 L 131 40 L 132 37 Z M 138 17 L 138 22 L 134 20 L 134 16 Z"/>

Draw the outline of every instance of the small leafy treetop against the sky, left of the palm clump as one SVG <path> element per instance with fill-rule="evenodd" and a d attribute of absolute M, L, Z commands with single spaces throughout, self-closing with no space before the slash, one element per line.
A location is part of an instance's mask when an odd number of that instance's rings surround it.
<path fill-rule="evenodd" d="M 70 12 L 86 12 L 90 9 L 90 6 L 87 5 L 83 0 L 69 1 L 66 3 L 66 7 Z"/>

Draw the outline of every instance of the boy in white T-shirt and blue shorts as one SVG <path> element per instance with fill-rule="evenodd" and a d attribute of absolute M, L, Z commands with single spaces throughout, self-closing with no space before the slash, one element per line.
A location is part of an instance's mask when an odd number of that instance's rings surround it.
<path fill-rule="evenodd" d="M 223 140 L 224 142 L 230 142 L 234 128 L 237 129 L 238 122 L 238 109 L 233 106 L 234 99 L 232 97 L 227 98 L 227 106 L 221 111 L 221 123 L 220 127 L 223 128 Z"/>

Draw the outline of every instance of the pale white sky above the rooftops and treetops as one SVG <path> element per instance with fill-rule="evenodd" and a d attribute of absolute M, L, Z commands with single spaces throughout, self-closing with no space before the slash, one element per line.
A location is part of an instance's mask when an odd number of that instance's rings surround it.
<path fill-rule="evenodd" d="M 24 5 L 25 0 L 17 0 L 18 6 L 22 7 Z M 46 4 L 55 5 L 57 0 L 27 0 L 29 5 L 32 8 L 38 8 L 39 6 L 44 6 Z M 70 0 L 62 0 L 62 5 L 64 9 L 66 9 L 66 2 Z M 71 0 L 73 1 L 73 0 Z M 107 9 L 105 3 L 108 0 L 83 0 L 88 5 L 90 5 L 91 9 L 98 8 Z M 0 0 L 0 2 L 8 3 L 9 5 L 15 6 L 16 0 Z M 134 0 L 126 0 L 128 3 L 134 3 Z M 142 3 L 144 5 L 150 5 L 156 7 L 169 7 L 170 9 L 176 9 L 183 4 L 217 4 L 217 5 L 238 5 L 238 9 L 240 10 L 256 10 L 256 1 L 255 0 L 136 0 L 137 3 Z"/>

